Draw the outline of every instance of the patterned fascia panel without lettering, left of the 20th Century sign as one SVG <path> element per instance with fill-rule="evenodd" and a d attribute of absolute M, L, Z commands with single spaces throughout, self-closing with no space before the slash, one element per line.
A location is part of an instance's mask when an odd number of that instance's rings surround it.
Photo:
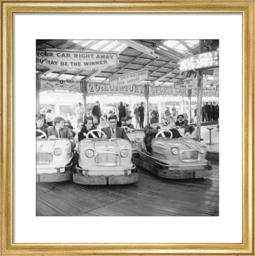
<path fill-rule="evenodd" d="M 40 78 L 39 90 L 69 90 L 74 92 L 81 92 L 81 83 L 79 81 L 74 82 Z"/>

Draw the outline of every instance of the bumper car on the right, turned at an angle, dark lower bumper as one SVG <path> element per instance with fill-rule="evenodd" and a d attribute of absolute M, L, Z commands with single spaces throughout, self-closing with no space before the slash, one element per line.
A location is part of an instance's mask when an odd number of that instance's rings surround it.
<path fill-rule="evenodd" d="M 171 130 L 168 132 L 169 138 L 165 137 L 164 130 L 157 133 L 151 141 L 151 152 L 147 151 L 144 139 L 136 139 L 139 149 L 133 155 L 134 164 L 167 179 L 209 178 L 207 146 L 189 137 L 172 138 Z"/>

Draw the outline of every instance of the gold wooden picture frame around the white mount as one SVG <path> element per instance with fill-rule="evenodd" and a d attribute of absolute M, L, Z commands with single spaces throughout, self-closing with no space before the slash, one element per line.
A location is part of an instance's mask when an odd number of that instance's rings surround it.
<path fill-rule="evenodd" d="M 1 1 L 1 255 L 254 255 L 254 3 L 254 1 Z M 13 13 L 133 12 L 242 13 L 242 243 L 13 243 L 13 114 L 10 114 L 13 113 Z"/>

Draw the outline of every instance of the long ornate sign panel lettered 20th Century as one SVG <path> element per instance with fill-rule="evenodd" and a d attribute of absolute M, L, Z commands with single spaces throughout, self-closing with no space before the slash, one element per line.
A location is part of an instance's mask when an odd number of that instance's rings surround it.
<path fill-rule="evenodd" d="M 109 85 L 100 82 L 87 82 L 87 95 L 98 94 L 125 94 L 145 96 L 145 86 L 143 85 Z"/>

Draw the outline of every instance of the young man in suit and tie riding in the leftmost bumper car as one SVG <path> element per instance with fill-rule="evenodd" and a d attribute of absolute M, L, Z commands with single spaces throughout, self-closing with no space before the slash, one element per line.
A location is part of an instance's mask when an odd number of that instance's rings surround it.
<path fill-rule="evenodd" d="M 55 126 L 48 127 L 48 138 L 67 138 L 71 142 L 73 150 L 75 147 L 75 139 L 68 127 L 65 126 L 65 119 L 62 117 L 55 117 L 54 124 Z"/>

